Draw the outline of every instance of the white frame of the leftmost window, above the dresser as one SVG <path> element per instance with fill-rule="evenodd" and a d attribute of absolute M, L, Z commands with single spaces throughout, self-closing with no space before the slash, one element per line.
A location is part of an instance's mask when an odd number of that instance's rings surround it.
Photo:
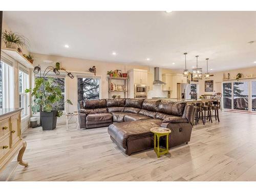
<path fill-rule="evenodd" d="M 3 65 L 3 108 L 14 108 L 14 69 L 12 61 L 1 57 Z"/>

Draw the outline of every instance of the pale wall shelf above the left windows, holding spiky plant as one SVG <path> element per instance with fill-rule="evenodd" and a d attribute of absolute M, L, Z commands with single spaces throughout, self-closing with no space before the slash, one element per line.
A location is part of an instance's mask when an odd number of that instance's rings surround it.
<path fill-rule="evenodd" d="M 6 53 L 17 62 L 24 65 L 25 67 L 31 68 L 31 69 L 34 68 L 33 64 L 28 59 L 26 59 L 22 54 L 20 54 L 16 49 L 4 48 L 4 49 L 1 49 L 1 51 Z"/>

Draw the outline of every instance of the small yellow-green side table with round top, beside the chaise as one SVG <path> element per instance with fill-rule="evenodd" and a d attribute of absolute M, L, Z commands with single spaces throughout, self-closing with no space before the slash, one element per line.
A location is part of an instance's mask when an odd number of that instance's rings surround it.
<path fill-rule="evenodd" d="M 160 155 L 169 153 L 168 138 L 171 131 L 164 127 L 154 127 L 150 131 L 154 133 L 154 151 L 156 152 L 157 157 L 160 157 Z M 160 140 L 160 137 L 162 136 L 166 136 L 166 148 L 160 148 L 159 140 Z M 156 137 L 157 137 L 157 146 L 156 146 Z"/>

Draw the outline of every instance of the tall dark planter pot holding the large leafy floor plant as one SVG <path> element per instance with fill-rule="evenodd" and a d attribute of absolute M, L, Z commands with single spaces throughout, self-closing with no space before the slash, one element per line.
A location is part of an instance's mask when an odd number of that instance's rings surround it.
<path fill-rule="evenodd" d="M 54 130 L 57 122 L 57 111 L 40 112 L 42 130 Z"/>

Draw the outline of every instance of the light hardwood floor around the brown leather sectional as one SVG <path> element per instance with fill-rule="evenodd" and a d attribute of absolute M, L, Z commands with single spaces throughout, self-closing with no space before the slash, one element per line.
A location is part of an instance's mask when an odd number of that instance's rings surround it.
<path fill-rule="evenodd" d="M 221 122 L 194 126 L 188 145 L 157 158 L 154 150 L 126 156 L 106 127 L 29 129 L 24 160 L 13 181 L 255 181 L 256 118 L 220 113 Z"/>

